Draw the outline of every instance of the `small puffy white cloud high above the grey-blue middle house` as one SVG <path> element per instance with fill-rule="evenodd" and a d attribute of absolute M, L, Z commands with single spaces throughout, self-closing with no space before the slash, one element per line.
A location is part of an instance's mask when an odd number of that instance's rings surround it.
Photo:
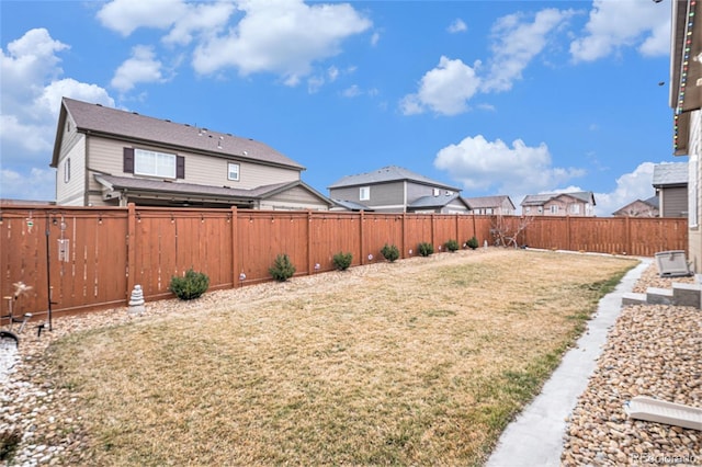
<path fill-rule="evenodd" d="M 479 65 L 476 61 L 472 68 L 458 59 L 441 57 L 439 66 L 422 77 L 419 91 L 403 99 L 403 113 L 412 115 L 430 110 L 442 115 L 456 115 L 465 112 L 466 102 L 480 86 L 475 72 Z"/>

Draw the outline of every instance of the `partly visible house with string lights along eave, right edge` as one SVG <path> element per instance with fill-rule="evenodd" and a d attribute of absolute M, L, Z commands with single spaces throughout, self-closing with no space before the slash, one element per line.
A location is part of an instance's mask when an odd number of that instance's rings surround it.
<path fill-rule="evenodd" d="M 676 156 L 688 156 L 688 252 L 702 272 L 702 2 L 676 0 L 670 41 L 670 107 Z M 663 3 L 661 3 L 663 4 Z"/>

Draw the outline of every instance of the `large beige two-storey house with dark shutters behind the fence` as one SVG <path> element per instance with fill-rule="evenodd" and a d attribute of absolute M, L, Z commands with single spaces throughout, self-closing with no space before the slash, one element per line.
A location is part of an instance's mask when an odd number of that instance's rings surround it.
<path fill-rule="evenodd" d="M 56 204 L 320 209 L 305 168 L 268 145 L 64 98 L 50 167 Z"/>

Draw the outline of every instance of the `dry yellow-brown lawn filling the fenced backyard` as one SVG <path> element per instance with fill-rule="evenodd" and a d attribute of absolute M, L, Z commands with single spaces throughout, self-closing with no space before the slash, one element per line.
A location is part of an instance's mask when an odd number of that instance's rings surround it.
<path fill-rule="evenodd" d="M 95 465 L 479 465 L 635 264 L 434 254 L 149 304 L 173 311 L 48 354 Z"/>

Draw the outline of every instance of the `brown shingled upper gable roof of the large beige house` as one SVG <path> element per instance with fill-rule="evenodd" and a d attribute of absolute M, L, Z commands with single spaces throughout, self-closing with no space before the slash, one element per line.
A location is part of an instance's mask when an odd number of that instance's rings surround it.
<path fill-rule="evenodd" d="M 137 144 L 151 144 L 215 157 L 236 158 L 257 163 L 305 170 L 303 166 L 294 160 L 253 139 L 68 98 L 61 100 L 50 167 L 57 167 L 58 164 L 64 127 L 68 115 L 76 123 L 79 133 L 91 133 Z"/>

